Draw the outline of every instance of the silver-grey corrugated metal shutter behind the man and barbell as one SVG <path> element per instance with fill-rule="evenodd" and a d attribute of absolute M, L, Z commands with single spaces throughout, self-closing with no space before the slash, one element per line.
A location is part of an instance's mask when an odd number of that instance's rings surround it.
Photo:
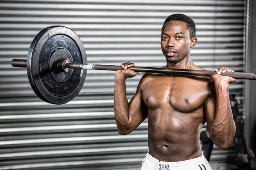
<path fill-rule="evenodd" d="M 137 170 L 147 147 L 147 121 L 119 135 L 113 113 L 113 71 L 90 71 L 79 95 L 67 104 L 42 102 L 24 68 L 29 45 L 43 28 L 63 25 L 84 43 L 91 64 L 164 66 L 160 33 L 165 18 L 194 19 L 198 44 L 192 60 L 213 70 L 243 71 L 244 0 L 1 0 L 0 170 Z M 127 80 L 128 98 L 142 73 Z M 243 98 L 243 81 L 230 85 Z M 243 110 L 240 107 L 240 110 Z M 214 148 L 213 169 L 232 169 L 233 150 Z"/>

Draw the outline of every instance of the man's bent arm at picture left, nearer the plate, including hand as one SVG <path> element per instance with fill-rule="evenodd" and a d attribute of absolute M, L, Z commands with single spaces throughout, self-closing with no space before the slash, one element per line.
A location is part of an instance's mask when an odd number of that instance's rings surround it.
<path fill-rule="evenodd" d="M 122 65 L 124 68 L 134 66 L 133 63 L 126 63 Z M 132 132 L 139 124 L 141 124 L 146 117 L 147 107 L 141 95 L 141 82 L 137 87 L 135 95 L 130 102 L 126 97 L 126 83 L 127 77 L 134 77 L 136 72 L 130 69 L 118 70 L 115 73 L 115 91 L 114 91 L 114 111 L 115 120 L 118 132 L 122 135 Z"/>

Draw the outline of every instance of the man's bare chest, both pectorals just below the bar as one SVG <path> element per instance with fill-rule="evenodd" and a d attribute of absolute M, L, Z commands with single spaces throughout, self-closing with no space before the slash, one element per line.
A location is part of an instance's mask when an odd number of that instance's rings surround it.
<path fill-rule="evenodd" d="M 150 109 L 171 107 L 188 113 L 201 107 L 209 97 L 209 83 L 189 77 L 157 77 L 144 84 L 141 91 Z"/>

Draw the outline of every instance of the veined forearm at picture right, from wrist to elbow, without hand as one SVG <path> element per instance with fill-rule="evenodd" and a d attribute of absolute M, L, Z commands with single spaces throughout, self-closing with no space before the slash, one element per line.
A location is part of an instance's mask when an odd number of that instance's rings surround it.
<path fill-rule="evenodd" d="M 218 84 L 216 89 L 216 113 L 211 127 L 211 138 L 218 148 L 228 149 L 232 145 L 236 126 L 229 101 L 229 85 Z"/>

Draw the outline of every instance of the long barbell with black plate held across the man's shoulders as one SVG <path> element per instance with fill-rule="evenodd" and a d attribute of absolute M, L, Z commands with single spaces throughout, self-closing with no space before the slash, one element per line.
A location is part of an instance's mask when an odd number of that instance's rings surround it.
<path fill-rule="evenodd" d="M 87 64 L 85 48 L 79 36 L 65 26 L 49 26 L 40 31 L 30 45 L 27 60 L 13 59 L 11 65 L 26 67 L 29 83 L 36 95 L 51 104 L 65 104 L 74 99 L 83 87 L 87 69 L 124 69 L 121 66 Z M 133 66 L 128 69 L 169 75 L 210 77 L 216 74 L 215 71 L 173 68 Z M 226 72 L 221 75 L 256 79 L 256 73 Z"/>

